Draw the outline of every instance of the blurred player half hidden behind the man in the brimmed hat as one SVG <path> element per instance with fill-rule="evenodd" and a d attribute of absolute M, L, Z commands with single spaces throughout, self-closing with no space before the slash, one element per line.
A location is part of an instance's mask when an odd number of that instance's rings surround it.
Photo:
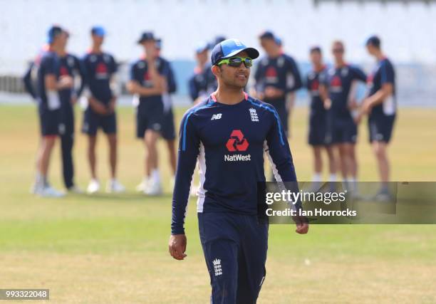
<path fill-rule="evenodd" d="M 175 81 L 174 71 L 172 70 L 170 61 L 160 56 L 162 51 L 162 39 L 156 39 L 156 65 L 160 67 L 162 65 L 162 75 L 165 77 L 165 83 L 167 84 L 167 90 L 162 94 L 162 103 L 164 105 L 164 116 L 162 122 L 162 130 L 160 135 L 167 143 L 168 155 L 170 160 L 170 167 L 173 179 L 176 171 L 176 148 L 175 148 L 175 126 L 174 115 L 172 112 L 172 100 L 171 94 L 174 94 L 177 90 L 177 83 Z"/>

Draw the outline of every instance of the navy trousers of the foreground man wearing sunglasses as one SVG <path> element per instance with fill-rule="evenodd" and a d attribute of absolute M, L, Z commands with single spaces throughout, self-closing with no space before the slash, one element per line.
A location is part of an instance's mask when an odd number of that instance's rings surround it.
<path fill-rule="evenodd" d="M 199 213 L 198 221 L 211 303 L 256 303 L 266 276 L 268 224 L 228 212 Z"/>

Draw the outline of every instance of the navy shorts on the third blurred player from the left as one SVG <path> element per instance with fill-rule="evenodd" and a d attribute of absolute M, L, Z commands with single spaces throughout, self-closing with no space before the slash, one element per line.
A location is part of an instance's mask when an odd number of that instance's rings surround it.
<path fill-rule="evenodd" d="M 90 136 L 95 136 L 99 128 L 101 128 L 105 134 L 116 134 L 117 117 L 115 113 L 100 115 L 94 112 L 90 107 L 86 108 L 83 113 L 82 132 Z"/>

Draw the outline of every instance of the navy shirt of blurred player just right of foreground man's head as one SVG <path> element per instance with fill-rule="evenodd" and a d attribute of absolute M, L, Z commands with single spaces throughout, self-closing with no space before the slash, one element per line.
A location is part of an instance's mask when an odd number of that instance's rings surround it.
<path fill-rule="evenodd" d="M 264 92 L 266 86 L 273 86 L 284 93 L 294 92 L 301 88 L 301 76 L 299 68 L 294 61 L 294 58 L 286 54 L 281 54 L 277 58 L 262 58 L 254 73 L 256 80 L 256 90 Z M 276 98 L 277 100 L 284 100 L 285 96 Z M 265 98 L 266 102 L 271 102 Z"/>

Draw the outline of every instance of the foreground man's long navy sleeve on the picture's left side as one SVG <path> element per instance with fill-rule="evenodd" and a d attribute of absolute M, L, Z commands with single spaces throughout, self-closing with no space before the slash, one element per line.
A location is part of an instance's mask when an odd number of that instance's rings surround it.
<path fill-rule="evenodd" d="M 179 155 L 172 194 L 171 234 L 185 234 L 184 224 L 192 174 L 199 153 L 199 137 L 192 123 L 194 110 L 188 111 L 180 124 Z"/>

